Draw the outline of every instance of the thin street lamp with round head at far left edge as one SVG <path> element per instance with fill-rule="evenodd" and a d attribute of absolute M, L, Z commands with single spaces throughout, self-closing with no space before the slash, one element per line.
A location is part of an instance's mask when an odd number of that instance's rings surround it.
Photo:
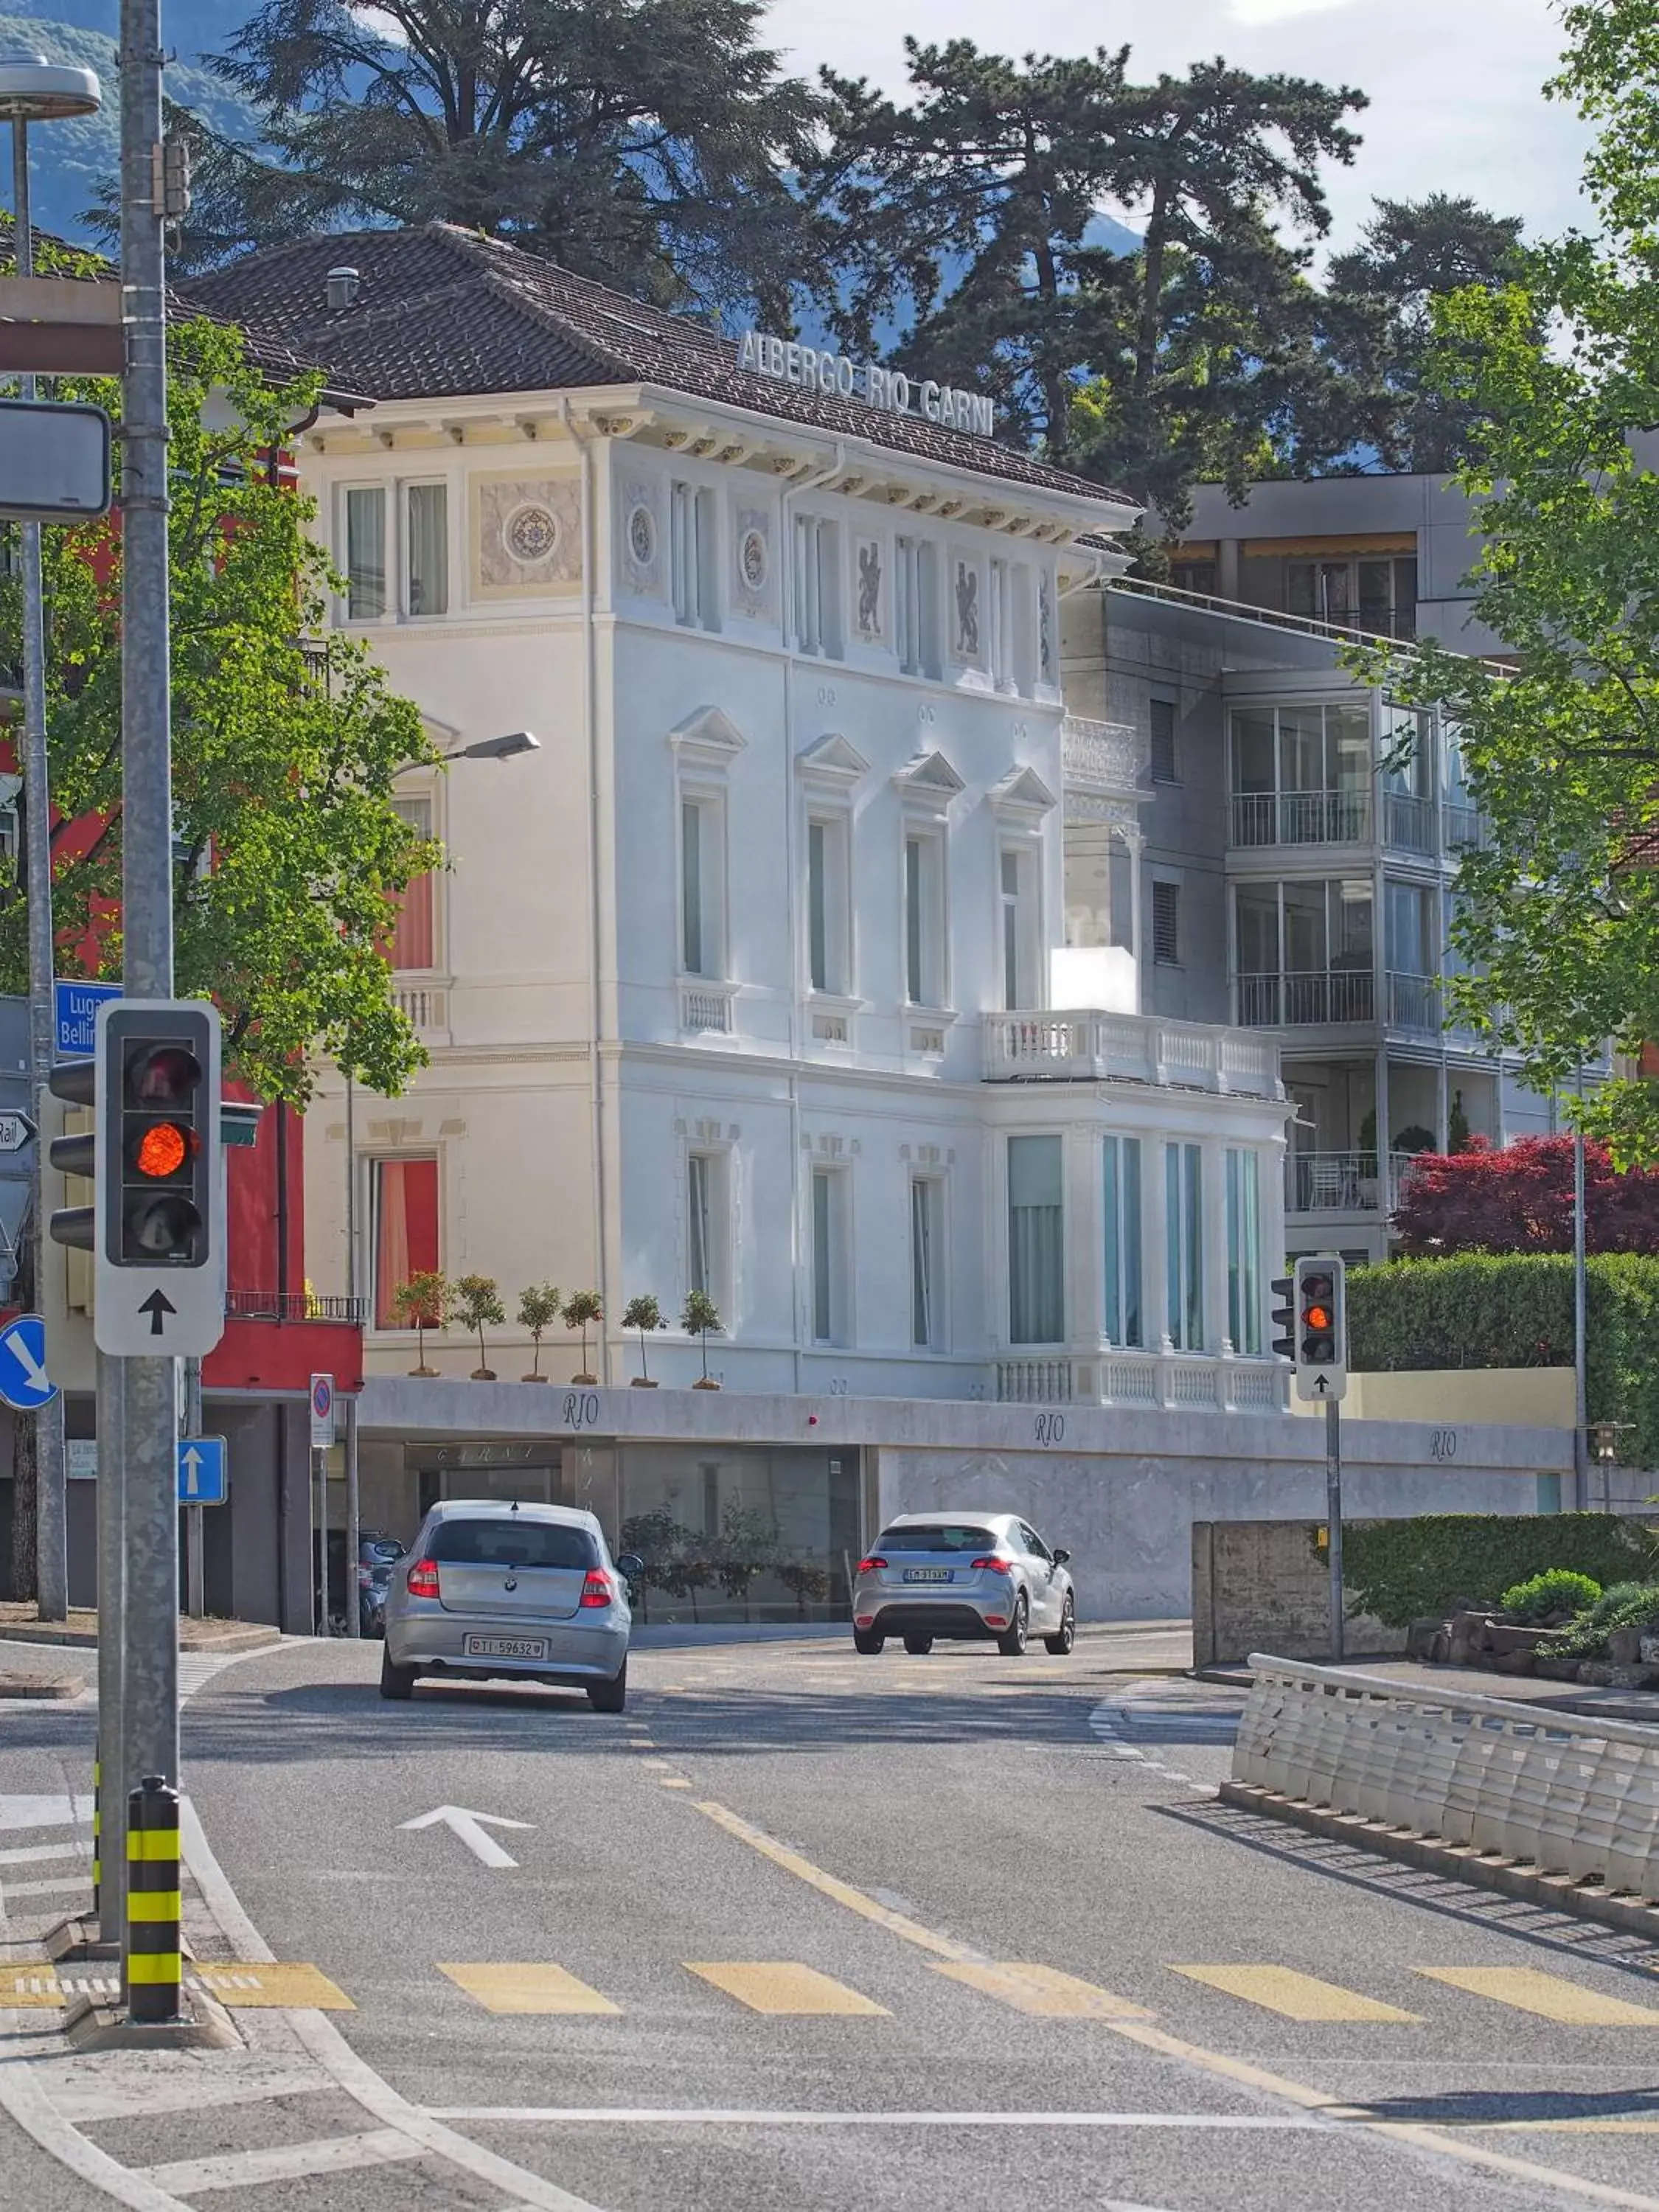
<path fill-rule="evenodd" d="M 0 62 L 0 119 L 11 124 L 11 177 L 15 215 L 15 268 L 35 274 L 35 239 L 29 219 L 29 124 L 93 115 L 100 106 L 97 75 L 44 55 Z M 33 400 L 35 378 L 18 378 L 18 396 Z M 22 783 L 24 783 L 24 883 L 29 891 L 29 1088 L 35 1126 L 46 1126 L 46 1077 L 51 1075 L 51 790 L 46 768 L 46 615 L 40 577 L 40 524 L 22 524 Z M 46 1243 L 46 1146 L 35 1137 L 33 1252 L 35 1298 L 42 1287 Z M 64 1400 L 62 1394 L 35 1413 L 35 1606 L 42 1621 L 69 1615 L 69 1535 L 64 1502 Z"/>

